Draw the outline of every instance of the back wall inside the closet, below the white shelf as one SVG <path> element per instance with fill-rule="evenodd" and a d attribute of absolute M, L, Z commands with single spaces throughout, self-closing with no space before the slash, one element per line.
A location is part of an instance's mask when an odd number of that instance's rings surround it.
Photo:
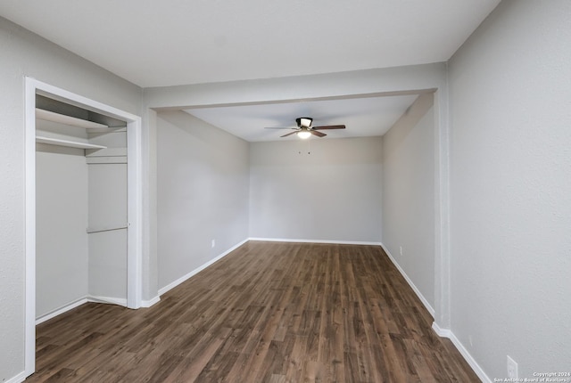
<path fill-rule="evenodd" d="M 38 144 L 36 317 L 87 296 L 87 164 L 83 150 Z"/>

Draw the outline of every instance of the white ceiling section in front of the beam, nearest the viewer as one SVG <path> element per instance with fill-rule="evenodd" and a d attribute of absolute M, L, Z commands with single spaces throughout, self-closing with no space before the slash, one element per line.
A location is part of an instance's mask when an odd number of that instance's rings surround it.
<path fill-rule="evenodd" d="M 0 0 L 138 86 L 447 61 L 499 0 Z"/>

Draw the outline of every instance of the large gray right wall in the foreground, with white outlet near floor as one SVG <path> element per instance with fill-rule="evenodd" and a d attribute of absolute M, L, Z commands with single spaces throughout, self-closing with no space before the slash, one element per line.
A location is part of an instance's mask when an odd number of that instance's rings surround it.
<path fill-rule="evenodd" d="M 570 63 L 567 0 L 502 1 L 450 63 L 451 330 L 490 379 L 571 367 Z"/>

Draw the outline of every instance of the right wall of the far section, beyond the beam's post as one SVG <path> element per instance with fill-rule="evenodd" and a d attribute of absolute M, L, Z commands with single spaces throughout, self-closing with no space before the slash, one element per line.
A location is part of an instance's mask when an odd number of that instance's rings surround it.
<path fill-rule="evenodd" d="M 383 136 L 383 245 L 434 314 L 433 103 L 419 96 Z"/>

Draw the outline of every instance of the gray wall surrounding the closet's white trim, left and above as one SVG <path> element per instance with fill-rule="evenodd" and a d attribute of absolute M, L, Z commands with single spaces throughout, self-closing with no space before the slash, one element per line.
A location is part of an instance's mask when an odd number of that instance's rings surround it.
<path fill-rule="evenodd" d="M 141 89 L 0 18 L 0 380 L 24 370 L 24 76 L 140 115 Z"/>

